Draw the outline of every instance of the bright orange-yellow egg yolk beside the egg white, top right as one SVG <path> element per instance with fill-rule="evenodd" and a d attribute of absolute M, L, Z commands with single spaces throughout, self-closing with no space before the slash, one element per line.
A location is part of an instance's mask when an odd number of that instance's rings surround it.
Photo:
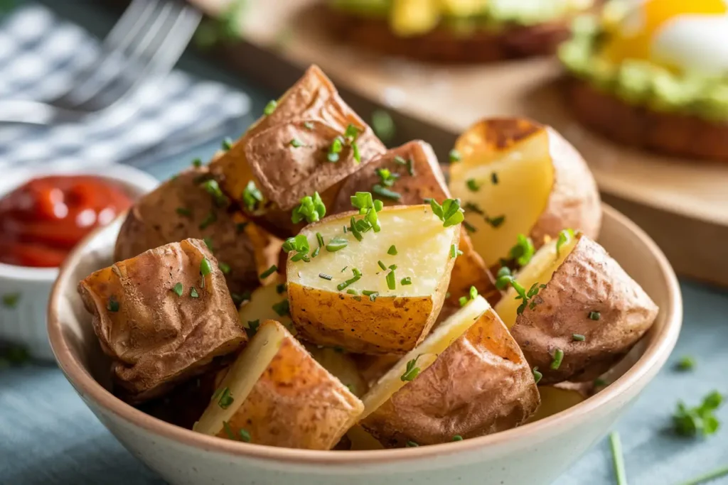
<path fill-rule="evenodd" d="M 650 60 L 655 35 L 673 18 L 691 14 L 725 15 L 727 12 L 724 0 L 644 0 L 616 25 L 607 28 L 609 40 L 602 53 L 613 63 L 625 59 Z"/>

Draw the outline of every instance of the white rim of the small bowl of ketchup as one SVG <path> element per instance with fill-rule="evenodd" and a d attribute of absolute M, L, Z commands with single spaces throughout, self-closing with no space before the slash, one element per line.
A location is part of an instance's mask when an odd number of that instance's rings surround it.
<path fill-rule="evenodd" d="M 139 194 L 149 192 L 159 185 L 159 180 L 154 176 L 143 172 L 130 165 L 107 164 L 98 167 L 23 167 L 13 170 L 4 177 L 9 183 L 0 186 L 0 197 L 14 191 L 24 183 L 35 177 L 47 177 L 50 175 L 94 175 L 100 179 L 110 180 L 122 186 L 125 192 L 138 191 Z M 7 178 L 6 178 L 7 177 Z M 87 236 L 93 236 L 96 231 L 91 231 Z M 87 239 L 82 239 L 77 246 L 85 244 Z M 71 257 L 74 251 L 68 253 Z M 58 278 L 58 267 L 36 268 L 33 266 L 9 265 L 0 262 L 0 278 L 13 279 L 15 281 L 47 281 L 52 283 Z"/>

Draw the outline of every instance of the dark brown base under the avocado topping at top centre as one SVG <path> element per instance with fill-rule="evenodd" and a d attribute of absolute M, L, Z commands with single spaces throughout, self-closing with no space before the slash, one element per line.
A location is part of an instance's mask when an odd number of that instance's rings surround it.
<path fill-rule="evenodd" d="M 386 19 L 326 8 L 325 25 L 336 39 L 385 55 L 433 63 L 491 63 L 499 60 L 553 55 L 569 39 L 571 19 L 537 25 L 503 25 L 497 31 L 457 35 L 436 28 L 421 36 L 400 37 Z"/>

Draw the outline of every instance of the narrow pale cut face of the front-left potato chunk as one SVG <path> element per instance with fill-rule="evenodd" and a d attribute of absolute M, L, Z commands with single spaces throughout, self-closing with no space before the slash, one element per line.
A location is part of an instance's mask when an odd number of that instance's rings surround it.
<path fill-rule="evenodd" d="M 248 398 L 253 386 L 268 368 L 284 339 L 285 333 L 280 326 L 261 326 L 256 337 L 250 340 L 248 347 L 232 364 L 218 387 L 228 388 L 234 401 L 227 409 L 223 409 L 218 404 L 218 399 L 213 399 L 194 425 L 195 431 L 213 436 L 221 432 L 223 422 L 229 422 Z"/>

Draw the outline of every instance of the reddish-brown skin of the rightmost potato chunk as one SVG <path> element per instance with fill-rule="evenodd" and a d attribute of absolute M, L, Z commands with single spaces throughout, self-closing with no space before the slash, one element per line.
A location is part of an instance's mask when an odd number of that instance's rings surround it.
<path fill-rule="evenodd" d="M 510 332 L 542 384 L 588 381 L 606 372 L 647 332 L 657 305 L 596 242 L 580 236 L 553 278 L 519 315 Z M 529 305 L 530 307 L 530 305 Z M 598 321 L 589 313 L 600 313 Z M 574 334 L 585 336 L 575 341 Z M 550 369 L 556 348 L 558 369 Z"/>

